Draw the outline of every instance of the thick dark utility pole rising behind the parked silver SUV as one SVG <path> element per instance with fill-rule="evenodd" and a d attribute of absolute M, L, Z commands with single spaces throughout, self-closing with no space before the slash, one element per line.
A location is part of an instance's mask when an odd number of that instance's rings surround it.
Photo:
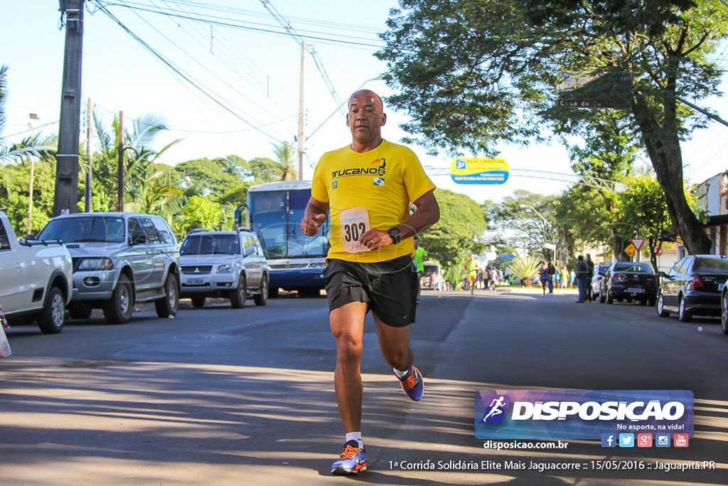
<path fill-rule="evenodd" d="M 75 213 L 78 202 L 84 0 L 60 0 L 60 11 L 61 15 L 66 15 L 66 52 L 63 58 L 53 216 Z"/>

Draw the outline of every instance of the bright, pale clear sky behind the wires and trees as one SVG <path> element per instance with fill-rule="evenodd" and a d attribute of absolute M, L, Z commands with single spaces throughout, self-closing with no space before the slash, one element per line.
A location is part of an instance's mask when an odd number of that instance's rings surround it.
<path fill-rule="evenodd" d="M 172 128 L 159 138 L 159 149 L 175 138 L 183 141 L 165 153 L 162 162 L 175 165 L 198 157 L 237 154 L 245 159 L 272 157 L 272 144 L 293 142 L 297 132 L 300 47 L 280 31 L 276 20 L 260 0 L 109 0 L 104 1 L 133 34 L 170 60 L 186 76 L 204 87 L 219 103 L 154 57 L 139 42 L 87 1 L 85 15 L 82 104 L 92 98 L 110 124 L 111 117 L 124 111 L 125 122 L 140 114 L 154 113 L 167 119 Z M 272 0 L 298 34 L 325 37 L 342 42 L 306 39 L 318 54 L 323 70 L 331 79 L 336 98 L 323 81 L 314 58 L 306 55 L 304 103 L 306 142 L 304 176 L 323 152 L 346 145 L 349 131 L 338 103 L 365 85 L 387 96 L 391 91 L 378 77 L 386 65 L 373 56 L 382 42 L 376 32 L 386 28 L 394 0 Z M 151 12 L 175 11 L 189 17 L 213 19 L 247 27 L 233 28 Z M 223 8 L 224 7 L 224 8 Z M 60 87 L 63 71 L 65 31 L 60 30 L 58 0 L 0 0 L 3 28 L 0 29 L 0 63 L 9 66 L 8 121 L 4 136 L 11 141 L 28 133 L 29 114 L 37 114 L 34 126 L 50 123 L 44 133 L 58 133 Z M 257 30 L 256 30 L 257 29 Z M 362 45 L 365 44 L 365 45 Z M 725 52 L 716 53 L 720 59 Z M 724 61 L 725 64 L 725 61 Z M 372 80 L 374 79 L 374 80 Z M 724 82 L 724 88 L 728 84 Z M 724 98 L 698 101 L 728 118 Z M 386 107 L 385 107 L 386 109 Z M 231 111 L 234 113 L 231 113 Z M 405 136 L 397 125 L 405 115 L 388 111 L 384 138 L 398 141 Z M 334 114 L 311 136 L 324 120 Z M 83 120 L 82 120 L 83 122 Z M 256 127 L 256 128 L 253 128 Z M 84 133 L 84 130 L 82 130 Z M 17 135 L 16 135 L 17 134 Z M 423 165 L 449 167 L 446 157 L 430 157 L 413 146 Z M 686 176 L 700 182 L 726 170 L 728 127 L 713 122 L 683 145 Z M 571 173 L 566 151 L 558 143 L 502 147 L 502 157 L 513 169 Z M 454 184 L 449 176 L 433 177 L 438 187 L 470 195 L 478 202 L 499 200 L 515 189 L 542 194 L 561 192 L 567 184 L 547 179 L 512 177 L 500 186 Z"/>

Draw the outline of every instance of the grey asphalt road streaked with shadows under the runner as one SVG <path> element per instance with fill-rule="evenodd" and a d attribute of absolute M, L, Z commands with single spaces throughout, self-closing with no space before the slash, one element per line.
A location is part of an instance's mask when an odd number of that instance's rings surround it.
<path fill-rule="evenodd" d="M 728 483 L 728 337 L 719 321 L 577 305 L 573 292 L 557 292 L 424 291 L 411 342 L 426 378 L 416 403 L 381 358 L 368 318 L 368 471 L 352 478 L 330 475 L 343 429 L 325 297 L 288 294 L 241 310 L 183 301 L 174 319 L 146 305 L 123 326 L 95 311 L 58 335 L 12 327 L 13 354 L 0 359 L 0 483 Z M 685 449 L 567 441 L 565 450 L 488 450 L 473 434 L 473 397 L 491 388 L 692 390 L 695 437 Z M 615 470 L 609 460 L 625 463 Z M 657 469 L 704 460 L 716 469 Z"/>

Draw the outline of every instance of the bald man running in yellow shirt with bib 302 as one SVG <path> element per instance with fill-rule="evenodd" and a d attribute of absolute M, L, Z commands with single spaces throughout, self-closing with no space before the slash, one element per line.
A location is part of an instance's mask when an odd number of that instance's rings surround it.
<path fill-rule="evenodd" d="M 331 248 L 324 272 L 329 321 L 336 340 L 334 389 L 346 432 L 333 474 L 366 469 L 361 434 L 364 318 L 371 310 L 379 349 L 407 396 L 422 398 L 413 366 L 409 324 L 417 309 L 412 237 L 440 219 L 435 184 L 407 147 L 381 138 L 387 115 L 379 95 L 349 98 L 352 144 L 323 154 L 314 171 L 301 231 L 313 236 L 331 210 Z M 416 211 L 410 215 L 409 205 Z"/>

